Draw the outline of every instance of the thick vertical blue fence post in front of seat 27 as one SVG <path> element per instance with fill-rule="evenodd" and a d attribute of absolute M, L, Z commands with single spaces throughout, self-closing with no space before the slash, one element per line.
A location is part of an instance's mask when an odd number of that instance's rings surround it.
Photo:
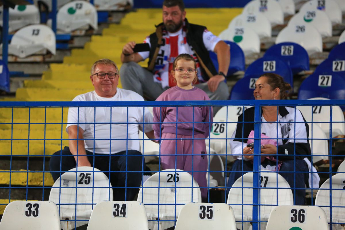
<path fill-rule="evenodd" d="M 256 102 L 256 101 L 255 101 Z M 261 106 L 255 103 L 254 111 L 254 162 L 253 162 L 253 229 L 259 229 L 259 165 L 260 165 Z"/>

